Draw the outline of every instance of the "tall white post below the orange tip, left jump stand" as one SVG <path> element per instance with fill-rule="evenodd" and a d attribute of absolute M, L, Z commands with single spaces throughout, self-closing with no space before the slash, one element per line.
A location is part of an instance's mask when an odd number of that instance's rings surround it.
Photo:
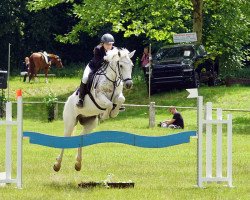
<path fill-rule="evenodd" d="M 22 188 L 23 100 L 17 97 L 17 188 Z"/>

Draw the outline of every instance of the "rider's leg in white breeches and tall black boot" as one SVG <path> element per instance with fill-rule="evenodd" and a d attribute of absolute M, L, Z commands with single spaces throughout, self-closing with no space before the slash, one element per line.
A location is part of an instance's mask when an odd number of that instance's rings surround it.
<path fill-rule="evenodd" d="M 89 68 L 89 65 L 86 66 L 83 76 L 82 76 L 82 80 L 81 80 L 81 84 L 80 84 L 80 89 L 79 89 L 79 101 L 76 104 L 77 107 L 82 108 L 83 107 L 83 101 L 84 101 L 84 97 L 86 95 L 86 84 L 88 81 L 88 77 L 89 74 L 91 73 L 91 69 Z"/>

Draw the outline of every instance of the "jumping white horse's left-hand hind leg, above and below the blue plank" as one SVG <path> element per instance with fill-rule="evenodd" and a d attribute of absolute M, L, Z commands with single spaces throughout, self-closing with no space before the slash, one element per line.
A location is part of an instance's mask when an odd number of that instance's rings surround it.
<path fill-rule="evenodd" d="M 74 131 L 76 122 L 70 120 L 64 120 L 64 137 L 70 137 Z M 53 169 L 58 172 L 61 169 L 61 163 L 63 158 L 64 149 L 61 150 L 61 153 L 56 158 Z"/>

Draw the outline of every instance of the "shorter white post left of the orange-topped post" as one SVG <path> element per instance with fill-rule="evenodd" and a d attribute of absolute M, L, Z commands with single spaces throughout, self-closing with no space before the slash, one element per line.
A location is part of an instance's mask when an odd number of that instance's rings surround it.
<path fill-rule="evenodd" d="M 5 172 L 6 180 L 11 180 L 11 159 L 12 159 L 12 103 L 6 103 L 6 151 L 5 151 Z"/>

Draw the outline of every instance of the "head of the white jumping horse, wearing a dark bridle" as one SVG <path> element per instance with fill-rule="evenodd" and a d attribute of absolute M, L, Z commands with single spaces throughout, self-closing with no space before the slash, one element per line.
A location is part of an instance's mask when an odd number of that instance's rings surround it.
<path fill-rule="evenodd" d="M 134 54 L 135 50 L 130 53 L 127 49 L 117 48 L 107 52 L 106 60 L 117 65 L 119 76 L 125 83 L 127 89 L 130 89 L 133 86 L 132 67 L 134 65 L 131 58 Z"/>

